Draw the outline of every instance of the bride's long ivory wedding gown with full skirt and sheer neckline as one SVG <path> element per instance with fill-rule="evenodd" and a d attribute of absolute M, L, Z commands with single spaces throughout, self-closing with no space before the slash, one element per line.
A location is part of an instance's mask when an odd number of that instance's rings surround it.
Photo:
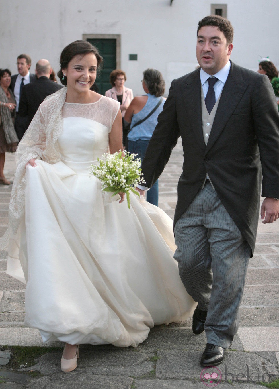
<path fill-rule="evenodd" d="M 88 106 L 63 106 L 61 161 L 27 167 L 25 225 L 10 240 L 7 272 L 21 279 L 20 241 L 25 324 L 44 342 L 136 346 L 155 324 L 187 319 L 196 303 L 173 259 L 172 220 L 133 194 L 130 210 L 126 200 L 107 203 L 89 178 L 111 125 L 99 116 L 102 98 Z"/>

